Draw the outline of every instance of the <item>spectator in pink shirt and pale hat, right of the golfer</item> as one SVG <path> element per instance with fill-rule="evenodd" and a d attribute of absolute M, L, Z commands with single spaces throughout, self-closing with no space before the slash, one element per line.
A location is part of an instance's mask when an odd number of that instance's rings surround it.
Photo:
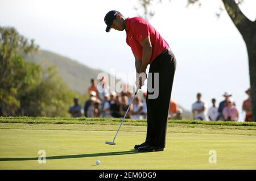
<path fill-rule="evenodd" d="M 232 98 L 228 98 L 226 100 L 228 106 L 224 107 L 222 115 L 225 121 L 237 121 L 239 117 L 239 113 L 237 107 L 234 106 L 234 100 Z"/>

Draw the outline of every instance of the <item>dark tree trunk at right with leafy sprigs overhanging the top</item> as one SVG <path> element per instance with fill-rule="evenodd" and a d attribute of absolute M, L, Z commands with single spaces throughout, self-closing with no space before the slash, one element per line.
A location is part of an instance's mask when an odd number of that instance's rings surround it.
<path fill-rule="evenodd" d="M 141 5 L 144 10 L 144 16 L 153 16 L 154 12 L 150 11 L 152 2 L 162 2 L 161 0 L 138 0 L 138 4 Z M 188 0 L 188 5 L 199 3 L 203 0 Z M 240 3 L 243 0 L 221 0 L 224 3 L 226 12 L 234 26 L 241 33 L 243 40 L 245 41 L 248 60 L 249 60 L 249 75 L 251 85 L 251 100 L 253 120 L 256 121 L 256 20 L 252 22 L 249 20 L 243 12 L 240 10 Z M 137 8 L 138 9 L 138 8 Z"/>

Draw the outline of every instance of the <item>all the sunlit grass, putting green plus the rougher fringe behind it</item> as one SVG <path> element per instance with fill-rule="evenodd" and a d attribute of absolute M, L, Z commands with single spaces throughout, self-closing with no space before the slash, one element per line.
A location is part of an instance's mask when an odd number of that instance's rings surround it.
<path fill-rule="evenodd" d="M 256 169 L 255 123 L 169 121 L 166 149 L 138 153 L 146 120 L 0 117 L 0 169 Z M 46 164 L 38 151 L 46 151 Z M 217 151 L 210 164 L 209 150 Z M 96 165 L 97 160 L 101 161 Z"/>

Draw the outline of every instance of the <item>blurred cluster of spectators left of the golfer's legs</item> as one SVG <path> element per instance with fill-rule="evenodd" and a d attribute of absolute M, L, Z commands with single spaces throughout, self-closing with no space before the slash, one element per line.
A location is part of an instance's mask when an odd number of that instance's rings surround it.
<path fill-rule="evenodd" d="M 74 99 L 75 105 L 69 108 L 72 117 L 123 117 L 132 99 L 132 92 L 122 91 L 119 95 L 115 91 L 109 91 L 106 79 L 102 77 L 99 85 L 92 79 L 92 85 L 88 88 L 89 99 L 86 100 L 84 107 L 78 104 L 77 98 Z M 76 112 L 79 110 L 80 112 Z M 136 96 L 131 103 L 130 111 L 126 118 L 146 119 L 146 93 L 143 98 Z"/>

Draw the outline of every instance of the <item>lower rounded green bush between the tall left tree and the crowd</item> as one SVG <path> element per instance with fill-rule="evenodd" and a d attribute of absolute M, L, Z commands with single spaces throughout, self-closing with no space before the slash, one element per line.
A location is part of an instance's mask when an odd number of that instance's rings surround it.
<path fill-rule="evenodd" d="M 20 97 L 20 115 L 69 117 L 68 108 L 77 96 L 62 81 L 56 66 L 43 71 L 38 85 Z"/>

